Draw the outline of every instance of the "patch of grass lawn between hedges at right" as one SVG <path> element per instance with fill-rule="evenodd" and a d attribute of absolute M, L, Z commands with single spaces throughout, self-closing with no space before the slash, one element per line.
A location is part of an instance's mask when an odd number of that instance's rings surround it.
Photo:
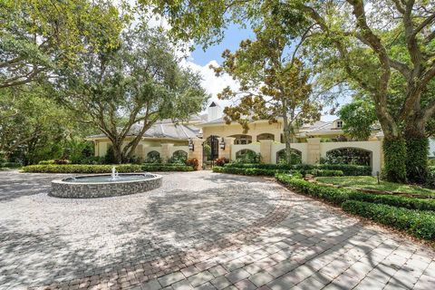
<path fill-rule="evenodd" d="M 421 195 L 435 196 L 435 190 L 423 189 L 415 185 L 407 185 L 382 181 L 378 184 L 378 179 L 371 176 L 346 176 L 346 177 L 324 177 L 316 178 L 319 182 L 332 183 L 345 188 L 353 189 L 377 189 L 391 192 L 413 193 Z"/>

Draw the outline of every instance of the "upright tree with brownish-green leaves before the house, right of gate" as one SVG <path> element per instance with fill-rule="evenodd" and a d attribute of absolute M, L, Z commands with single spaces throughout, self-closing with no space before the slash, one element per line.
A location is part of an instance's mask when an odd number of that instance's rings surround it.
<path fill-rule="evenodd" d="M 286 15 L 290 17 L 288 11 Z M 288 164 L 292 162 L 291 142 L 297 126 L 319 120 L 321 110 L 319 102 L 310 97 L 309 69 L 295 56 L 304 37 L 295 42 L 292 35 L 303 29 L 302 15 L 291 17 L 295 23 L 291 29 L 280 21 L 279 14 L 266 17 L 255 29 L 255 41 L 243 41 L 235 53 L 225 51 L 223 65 L 212 66 L 217 75 L 228 73 L 240 82 L 237 92 L 227 87 L 218 94 L 221 99 L 239 98 L 237 106 L 224 110 L 227 123 L 239 122 L 246 133 L 249 121 L 282 119 Z"/>

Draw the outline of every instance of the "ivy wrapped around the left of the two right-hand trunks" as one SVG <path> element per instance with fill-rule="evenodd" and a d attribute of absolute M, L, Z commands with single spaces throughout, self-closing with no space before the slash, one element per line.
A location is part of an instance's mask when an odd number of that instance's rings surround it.
<path fill-rule="evenodd" d="M 406 142 L 405 140 L 387 139 L 382 142 L 385 164 L 382 178 L 391 182 L 406 182 Z"/>

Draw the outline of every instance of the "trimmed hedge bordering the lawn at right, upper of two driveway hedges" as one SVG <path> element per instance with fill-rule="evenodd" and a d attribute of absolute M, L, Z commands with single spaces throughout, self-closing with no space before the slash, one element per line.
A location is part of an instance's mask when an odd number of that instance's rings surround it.
<path fill-rule="evenodd" d="M 275 179 L 283 183 L 285 186 L 295 189 L 297 192 L 315 198 L 323 198 L 335 205 L 341 205 L 346 200 L 358 200 L 390 205 L 392 207 L 435 211 L 434 199 L 378 195 L 352 189 L 337 189 L 330 186 L 315 184 L 304 179 L 295 179 L 294 177 L 285 174 L 277 174 Z"/>

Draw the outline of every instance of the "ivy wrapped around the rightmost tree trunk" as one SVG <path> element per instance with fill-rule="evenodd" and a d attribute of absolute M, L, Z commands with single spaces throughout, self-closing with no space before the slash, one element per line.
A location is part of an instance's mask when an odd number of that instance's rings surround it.
<path fill-rule="evenodd" d="M 406 137 L 406 175 L 408 181 L 425 183 L 428 178 L 429 139 Z"/>

